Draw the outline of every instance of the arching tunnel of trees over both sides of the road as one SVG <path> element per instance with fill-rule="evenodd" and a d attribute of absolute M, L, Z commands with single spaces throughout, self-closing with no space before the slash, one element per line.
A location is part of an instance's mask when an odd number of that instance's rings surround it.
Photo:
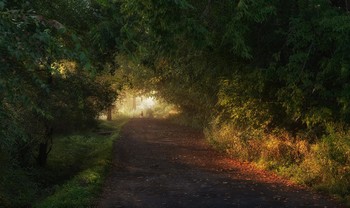
<path fill-rule="evenodd" d="M 281 158 L 272 166 L 304 170 L 322 154 L 328 166 L 312 164 L 329 176 L 311 171 L 305 183 L 338 177 L 349 194 L 349 9 L 349 0 L 0 0 L 0 164 L 45 166 L 54 134 L 90 128 L 128 86 L 156 91 L 213 143 L 227 131 L 224 148 L 244 160 L 268 159 L 257 146 L 271 137 Z"/>

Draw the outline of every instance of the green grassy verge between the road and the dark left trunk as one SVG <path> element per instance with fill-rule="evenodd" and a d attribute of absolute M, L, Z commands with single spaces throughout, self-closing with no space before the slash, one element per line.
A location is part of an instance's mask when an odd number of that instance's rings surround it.
<path fill-rule="evenodd" d="M 126 121 L 105 121 L 98 132 L 57 138 L 44 178 L 47 184 L 67 180 L 49 187 L 51 195 L 34 207 L 91 207 L 110 167 L 113 142 Z"/>

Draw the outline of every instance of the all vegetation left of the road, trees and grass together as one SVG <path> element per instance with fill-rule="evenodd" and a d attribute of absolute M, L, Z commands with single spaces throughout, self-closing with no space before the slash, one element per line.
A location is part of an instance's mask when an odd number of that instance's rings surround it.
<path fill-rule="evenodd" d="M 119 121 L 93 132 L 118 95 L 90 44 L 99 5 L 0 0 L 0 207 L 86 207 L 98 195 L 119 132 Z"/>

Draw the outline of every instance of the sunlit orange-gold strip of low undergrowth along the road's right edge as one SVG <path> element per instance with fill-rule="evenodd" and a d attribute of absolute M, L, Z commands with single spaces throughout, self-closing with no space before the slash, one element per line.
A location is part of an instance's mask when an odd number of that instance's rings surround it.
<path fill-rule="evenodd" d="M 234 158 L 255 163 L 350 206 L 350 131 L 337 129 L 310 142 L 280 130 L 242 131 L 233 124 L 213 124 L 207 139 Z"/>

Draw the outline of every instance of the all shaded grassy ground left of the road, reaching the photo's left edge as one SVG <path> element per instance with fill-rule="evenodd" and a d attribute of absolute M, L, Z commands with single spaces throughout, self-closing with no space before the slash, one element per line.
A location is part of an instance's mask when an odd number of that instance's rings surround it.
<path fill-rule="evenodd" d="M 56 136 L 45 168 L 21 168 L 0 155 L 0 207 L 92 207 L 127 121 L 102 121 L 90 132 Z"/>

